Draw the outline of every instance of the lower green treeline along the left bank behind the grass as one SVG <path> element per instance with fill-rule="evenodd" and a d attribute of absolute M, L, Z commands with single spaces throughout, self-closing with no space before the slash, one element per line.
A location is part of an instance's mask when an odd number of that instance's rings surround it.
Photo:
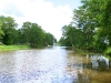
<path fill-rule="evenodd" d="M 37 23 L 23 22 L 18 29 L 18 23 L 11 17 L 0 15 L 0 43 L 6 45 L 29 44 L 32 48 L 52 45 L 57 42 L 51 33 L 47 33 Z"/>

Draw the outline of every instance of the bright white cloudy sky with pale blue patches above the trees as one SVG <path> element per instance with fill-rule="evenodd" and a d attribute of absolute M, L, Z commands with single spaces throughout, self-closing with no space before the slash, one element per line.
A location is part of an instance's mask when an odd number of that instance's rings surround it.
<path fill-rule="evenodd" d="M 80 4 L 80 0 L 0 0 L 0 15 L 14 18 L 19 28 L 36 22 L 59 40 L 61 28 L 72 21 L 72 10 Z"/>

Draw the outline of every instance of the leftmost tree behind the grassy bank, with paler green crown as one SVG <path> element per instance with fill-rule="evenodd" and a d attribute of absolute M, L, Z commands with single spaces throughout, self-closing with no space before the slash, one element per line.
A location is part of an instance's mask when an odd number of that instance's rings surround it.
<path fill-rule="evenodd" d="M 2 35 L 2 42 L 3 44 L 13 44 L 14 43 L 14 39 L 17 38 L 16 35 L 16 28 L 17 28 L 17 23 L 14 22 L 14 19 L 11 17 L 0 17 L 1 20 L 1 29 L 4 33 L 4 35 Z"/>

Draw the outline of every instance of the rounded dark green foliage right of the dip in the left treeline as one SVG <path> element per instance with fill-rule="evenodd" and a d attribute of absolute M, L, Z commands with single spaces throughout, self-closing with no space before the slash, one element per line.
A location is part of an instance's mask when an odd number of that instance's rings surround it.
<path fill-rule="evenodd" d="M 51 33 L 46 33 L 40 25 L 31 22 L 23 22 L 19 30 L 20 42 L 30 44 L 32 48 L 40 48 L 53 44 L 54 37 Z"/>

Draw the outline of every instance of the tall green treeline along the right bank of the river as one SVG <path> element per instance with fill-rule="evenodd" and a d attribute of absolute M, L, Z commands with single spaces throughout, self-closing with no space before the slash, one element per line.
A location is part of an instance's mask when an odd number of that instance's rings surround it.
<path fill-rule="evenodd" d="M 81 0 L 72 22 L 62 28 L 61 45 L 103 52 L 111 48 L 111 0 Z"/>

